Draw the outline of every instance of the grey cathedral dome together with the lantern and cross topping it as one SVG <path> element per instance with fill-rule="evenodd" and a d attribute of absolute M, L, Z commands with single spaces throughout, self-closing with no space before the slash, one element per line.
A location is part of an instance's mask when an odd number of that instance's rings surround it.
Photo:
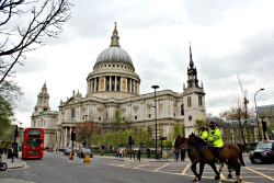
<path fill-rule="evenodd" d="M 121 62 L 121 64 L 127 64 L 134 68 L 130 56 L 127 54 L 127 52 L 125 52 L 124 49 L 119 47 L 118 41 L 119 41 L 119 36 L 118 36 L 117 28 L 116 28 L 116 23 L 115 23 L 111 45 L 109 48 L 104 49 L 98 56 L 95 66 L 101 65 L 101 64 Z"/>

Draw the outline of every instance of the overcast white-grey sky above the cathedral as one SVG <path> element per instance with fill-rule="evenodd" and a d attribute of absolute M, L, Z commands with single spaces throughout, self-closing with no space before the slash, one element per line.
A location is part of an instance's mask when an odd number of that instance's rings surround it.
<path fill-rule="evenodd" d="M 206 112 L 218 116 L 248 91 L 249 110 L 274 104 L 273 0 L 71 0 L 72 18 L 58 39 L 30 53 L 16 67 L 24 99 L 15 117 L 31 125 L 37 94 L 46 81 L 52 111 L 79 90 L 96 57 L 111 43 L 117 22 L 121 48 L 141 79 L 140 93 L 183 91 L 192 45 L 197 78 L 206 92 Z"/>

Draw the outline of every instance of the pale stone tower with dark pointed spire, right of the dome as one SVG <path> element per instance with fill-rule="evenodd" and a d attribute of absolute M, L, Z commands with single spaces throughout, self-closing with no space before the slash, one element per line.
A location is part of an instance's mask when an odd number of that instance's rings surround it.
<path fill-rule="evenodd" d="M 185 137 L 195 133 L 194 126 L 197 119 L 206 119 L 205 92 L 203 83 L 201 87 L 197 79 L 197 69 L 192 59 L 192 49 L 190 46 L 190 64 L 187 67 L 187 85 L 183 88 L 184 101 L 184 127 Z"/>

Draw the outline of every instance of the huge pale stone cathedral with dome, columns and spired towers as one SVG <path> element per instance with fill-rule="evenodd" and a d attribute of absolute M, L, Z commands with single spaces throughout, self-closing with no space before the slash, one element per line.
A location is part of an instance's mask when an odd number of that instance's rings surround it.
<path fill-rule="evenodd" d="M 87 77 L 87 95 L 73 91 L 70 98 L 60 101 L 58 112 L 50 112 L 47 105 L 49 96 L 42 92 L 32 115 L 32 126 L 47 127 L 50 134 L 48 141 L 56 137 L 57 147 L 67 147 L 71 146 L 70 134 L 79 123 L 94 122 L 102 127 L 102 133 L 112 131 L 107 124 L 119 110 L 130 128 L 142 126 L 155 134 L 155 91 L 151 89 L 151 93 L 140 94 L 140 81 L 130 56 L 119 46 L 115 24 L 110 47 L 98 56 L 93 70 Z M 160 81 L 155 84 L 161 88 Z M 189 136 L 194 131 L 195 121 L 206 118 L 205 92 L 203 83 L 198 83 L 191 47 L 186 85 L 183 84 L 181 92 L 157 90 L 156 99 L 158 130 L 165 137 L 175 124 L 184 124 Z"/>

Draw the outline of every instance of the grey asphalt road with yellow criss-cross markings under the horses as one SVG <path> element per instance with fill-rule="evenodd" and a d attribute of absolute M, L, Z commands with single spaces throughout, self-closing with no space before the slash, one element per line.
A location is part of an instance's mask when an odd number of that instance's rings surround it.
<path fill-rule="evenodd" d="M 243 182 L 274 182 L 274 164 L 251 164 L 248 158 L 244 158 L 246 167 L 241 171 Z M 179 183 L 191 182 L 193 178 L 189 159 L 184 162 L 138 162 L 95 156 L 91 163 L 83 163 L 83 160 L 77 157 L 73 161 L 68 159 L 62 153 L 45 152 L 43 160 L 27 160 L 25 168 L 0 172 L 0 183 L 7 179 L 10 179 L 10 182 L 24 180 L 32 183 Z M 227 170 L 224 169 L 221 181 L 215 181 L 212 169 L 206 167 L 202 182 L 233 181 L 226 179 L 226 175 Z"/>

